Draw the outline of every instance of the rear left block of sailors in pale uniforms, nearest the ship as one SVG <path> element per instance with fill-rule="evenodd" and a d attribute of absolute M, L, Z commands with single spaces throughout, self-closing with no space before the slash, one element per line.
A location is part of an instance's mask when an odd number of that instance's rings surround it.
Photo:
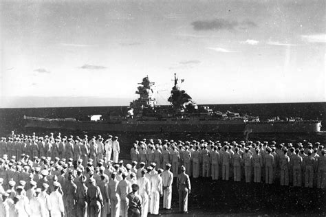
<path fill-rule="evenodd" d="M 87 135 L 84 139 L 78 136 L 74 138 L 72 135 L 61 138 L 61 134 L 54 138 L 53 133 L 45 137 L 13 135 L 8 138 L 8 141 L 6 137 L 1 138 L 0 156 L 6 154 L 8 157 L 19 157 L 23 153 L 30 157 L 48 156 L 52 159 L 54 157 L 83 159 L 84 162 L 87 162 L 89 158 L 97 162 L 97 159 L 104 159 L 104 157 L 109 161 L 113 157 L 113 162 L 118 162 L 120 144 L 118 137 L 111 135 L 105 141 L 101 135 L 89 140 Z"/>

